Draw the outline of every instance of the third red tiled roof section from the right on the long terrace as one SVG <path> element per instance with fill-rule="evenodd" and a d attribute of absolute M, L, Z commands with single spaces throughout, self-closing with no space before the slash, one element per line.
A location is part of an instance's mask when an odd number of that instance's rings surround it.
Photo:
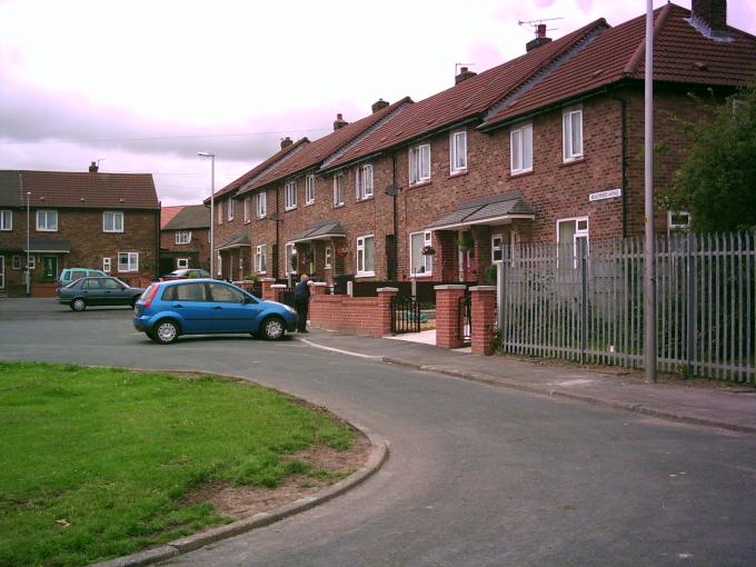
<path fill-rule="evenodd" d="M 401 116 L 401 113 L 406 111 L 402 110 L 402 108 L 411 108 L 411 102 L 412 101 L 409 97 L 405 97 L 404 99 L 389 105 L 388 107 L 385 107 L 360 120 L 357 120 L 356 122 L 351 122 L 350 125 L 344 126 L 338 130 L 324 136 L 322 138 L 318 138 L 304 148 L 302 151 L 298 152 L 296 156 L 292 156 L 291 159 L 286 160 L 285 162 L 280 163 L 280 166 L 273 167 L 270 169 L 270 171 L 263 176 L 260 176 L 260 178 L 253 181 L 246 190 L 257 189 L 258 187 L 272 183 L 308 168 L 319 166 L 326 158 L 328 158 L 328 156 L 341 149 L 358 136 L 365 133 L 371 127 L 379 123 L 384 118 L 389 118 L 396 111 L 399 111 L 397 116 Z M 396 118 L 391 118 L 388 123 L 394 120 L 396 120 Z"/>

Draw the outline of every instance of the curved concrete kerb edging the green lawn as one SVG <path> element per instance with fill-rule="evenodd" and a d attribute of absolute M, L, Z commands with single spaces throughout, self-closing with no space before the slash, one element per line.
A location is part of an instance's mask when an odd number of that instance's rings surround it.
<path fill-rule="evenodd" d="M 182 371 L 188 371 L 188 370 L 138 370 L 138 371 L 160 371 L 160 372 L 182 372 Z M 212 374 L 212 372 L 197 372 L 197 371 L 191 371 L 192 374 Z M 240 376 L 230 376 L 230 375 L 219 375 L 219 374 L 212 374 L 213 376 L 223 376 L 226 378 L 232 378 L 236 380 L 245 380 L 249 381 L 248 379 L 240 377 Z M 263 386 L 265 387 L 265 386 Z M 277 390 L 278 391 L 278 390 Z M 290 394 L 286 394 L 287 396 L 291 396 L 297 398 L 296 396 L 292 396 Z M 301 399 L 301 398 L 297 398 Z M 305 400 L 306 401 L 306 400 Z M 352 424 L 349 421 L 345 422 L 349 424 L 351 427 L 360 431 L 362 435 L 365 435 L 369 440 L 370 445 L 372 446 L 372 449 L 370 450 L 370 455 L 368 456 L 368 459 L 365 461 L 365 465 L 362 465 L 356 472 L 352 475 L 348 476 L 347 478 L 339 480 L 332 486 L 329 486 L 325 490 L 321 490 L 312 496 L 307 496 L 305 498 L 300 498 L 299 500 L 295 500 L 294 503 L 287 504 L 286 506 L 281 506 L 280 508 L 272 510 L 272 511 L 262 511 L 259 514 L 255 514 L 253 516 L 249 516 L 248 518 L 242 518 L 240 520 L 233 521 L 231 524 L 227 524 L 225 526 L 218 526 L 216 528 L 208 529 L 206 531 L 200 531 L 199 534 L 193 534 L 191 536 L 187 536 L 180 539 L 176 539 L 173 541 L 170 541 L 168 544 L 163 544 L 159 547 L 153 547 L 150 549 L 145 549 L 143 551 L 137 551 L 131 555 L 127 555 L 123 557 L 118 557 L 116 559 L 110 559 L 108 561 L 102 561 L 94 564 L 94 567 L 138 567 L 141 565 L 152 565 L 156 563 L 165 561 L 167 559 L 170 559 L 171 557 L 176 557 L 178 555 L 186 554 L 188 551 L 192 551 L 195 549 L 199 549 L 200 547 L 215 544 L 217 541 L 220 541 L 222 539 L 228 539 L 233 536 L 238 536 L 240 534 L 245 534 L 247 531 L 250 531 L 252 529 L 261 528 L 265 526 L 269 526 L 270 524 L 275 524 L 277 521 L 280 521 L 285 518 L 288 518 L 289 516 L 294 516 L 296 514 L 309 510 L 310 508 L 315 508 L 316 506 L 319 506 L 324 503 L 327 503 L 328 500 L 336 498 L 337 496 L 342 495 L 344 493 L 351 490 L 352 488 L 358 487 L 362 483 L 365 483 L 368 478 L 370 478 L 372 475 L 375 475 L 380 467 L 384 466 L 384 464 L 388 460 L 389 457 L 389 444 L 386 439 L 381 438 L 380 436 L 374 434 L 372 431 L 368 430 L 366 427 L 359 425 L 359 424 Z"/>

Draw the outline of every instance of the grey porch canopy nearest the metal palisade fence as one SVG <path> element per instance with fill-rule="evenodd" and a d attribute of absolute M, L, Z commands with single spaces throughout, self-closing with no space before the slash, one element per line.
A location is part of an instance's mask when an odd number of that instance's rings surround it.
<path fill-rule="evenodd" d="M 426 227 L 426 230 L 454 230 L 471 225 L 501 225 L 514 219 L 535 218 L 535 207 L 519 191 L 510 191 L 466 201 L 454 212 Z"/>

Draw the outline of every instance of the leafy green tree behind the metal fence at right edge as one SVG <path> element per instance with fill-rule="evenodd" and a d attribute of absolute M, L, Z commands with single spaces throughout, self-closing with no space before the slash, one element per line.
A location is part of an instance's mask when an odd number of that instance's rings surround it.
<path fill-rule="evenodd" d="M 756 230 L 756 83 L 685 127 L 693 148 L 664 207 L 690 212 L 696 232 Z"/>

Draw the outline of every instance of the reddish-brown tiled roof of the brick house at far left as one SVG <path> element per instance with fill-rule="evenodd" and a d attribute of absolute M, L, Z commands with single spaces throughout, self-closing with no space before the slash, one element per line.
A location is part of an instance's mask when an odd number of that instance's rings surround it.
<path fill-rule="evenodd" d="M 21 171 L 32 207 L 160 209 L 151 173 Z"/>

